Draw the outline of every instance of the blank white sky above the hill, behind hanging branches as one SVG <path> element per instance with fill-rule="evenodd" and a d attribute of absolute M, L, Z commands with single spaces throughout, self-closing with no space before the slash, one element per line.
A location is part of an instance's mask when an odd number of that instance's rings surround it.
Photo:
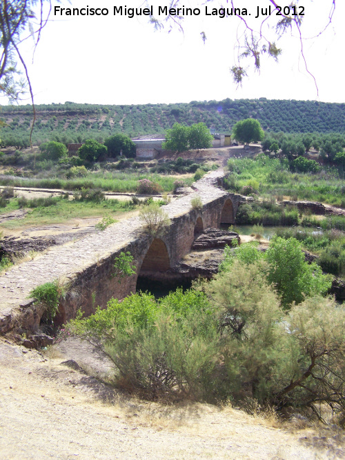
<path fill-rule="evenodd" d="M 289 1 L 281 2 L 281 6 Z M 34 52 L 31 39 L 21 45 L 28 64 L 35 103 L 144 104 L 210 101 L 221 99 L 300 99 L 325 102 L 345 102 L 343 47 L 345 44 L 345 2 L 337 0 L 331 26 L 317 38 L 326 26 L 332 0 L 300 0 L 304 7 L 304 65 L 297 31 L 277 42 L 283 49 L 279 63 L 262 60 L 258 74 L 253 68 L 242 88 L 230 74 L 236 61 L 234 49 L 237 36 L 243 35 L 238 17 L 206 16 L 216 1 L 203 3 L 181 0 L 181 6 L 200 9 L 199 16 L 185 16 L 184 32 L 168 28 L 155 32 L 148 17 L 113 14 L 114 6 L 145 6 L 140 0 L 52 0 L 50 20 L 43 29 Z M 236 7 L 246 8 L 248 25 L 257 30 L 263 19 L 255 18 L 257 8 L 268 7 L 268 0 L 239 0 Z M 152 4 L 157 16 L 164 0 Z M 107 16 L 55 15 L 61 8 L 108 8 Z M 229 3 L 226 6 L 230 8 Z M 299 10 L 299 11 L 302 11 Z M 162 17 L 163 18 L 163 17 Z M 264 33 L 274 36 L 277 17 L 268 17 Z M 270 26 L 270 28 L 268 28 Z M 200 32 L 205 32 L 203 43 Z M 249 63 L 249 62 L 248 62 Z M 6 103 L 0 99 L 0 103 Z M 30 100 L 23 101 L 30 103 Z"/>

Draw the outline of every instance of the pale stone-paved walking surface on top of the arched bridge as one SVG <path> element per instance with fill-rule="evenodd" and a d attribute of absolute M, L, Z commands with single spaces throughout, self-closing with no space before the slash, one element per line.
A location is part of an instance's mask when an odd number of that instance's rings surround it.
<path fill-rule="evenodd" d="M 210 172 L 195 184 L 194 193 L 164 206 L 170 219 L 189 212 L 190 200 L 196 195 L 201 197 L 204 205 L 226 195 L 224 190 L 213 186 L 217 178 L 223 175 L 221 170 Z M 28 296 L 33 288 L 55 279 L 73 279 L 88 266 L 125 248 L 130 241 L 137 239 L 137 230 L 141 226 L 139 217 L 132 217 L 112 224 L 103 232 L 50 248 L 46 254 L 8 270 L 0 277 L 0 332 L 1 323 L 8 321 L 13 310 L 28 303 Z"/>

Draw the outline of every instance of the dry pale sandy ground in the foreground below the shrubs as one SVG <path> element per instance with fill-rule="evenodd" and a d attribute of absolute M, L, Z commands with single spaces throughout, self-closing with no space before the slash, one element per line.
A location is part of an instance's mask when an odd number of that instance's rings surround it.
<path fill-rule="evenodd" d="M 66 363 L 80 348 L 64 347 L 40 354 L 0 341 L 1 460 L 344 458 L 310 430 L 233 408 L 128 397 Z"/>

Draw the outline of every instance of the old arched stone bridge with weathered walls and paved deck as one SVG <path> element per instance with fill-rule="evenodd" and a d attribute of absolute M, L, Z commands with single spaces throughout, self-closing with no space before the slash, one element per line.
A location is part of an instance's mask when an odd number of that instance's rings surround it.
<path fill-rule="evenodd" d="M 139 275 L 164 277 L 190 251 L 195 235 L 209 227 L 219 228 L 221 223 L 235 223 L 242 197 L 215 187 L 221 175 L 209 173 L 195 183 L 195 192 L 163 206 L 171 225 L 161 238 L 145 234 L 140 218 L 132 217 L 14 266 L 0 277 L 0 333 L 17 326 L 38 329 L 41 312 L 28 297 L 33 288 L 48 281 L 59 280 L 68 287 L 56 318 L 63 324 L 79 308 L 92 314 L 97 306 L 105 308 L 111 297 L 121 299 L 135 292 Z M 195 196 L 203 203 L 200 211 L 192 209 L 190 201 Z M 114 260 L 122 251 L 132 254 L 136 273 L 117 279 Z"/>

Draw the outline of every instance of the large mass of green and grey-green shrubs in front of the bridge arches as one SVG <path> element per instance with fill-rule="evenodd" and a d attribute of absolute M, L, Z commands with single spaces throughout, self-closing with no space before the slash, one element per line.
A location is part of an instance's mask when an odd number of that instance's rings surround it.
<path fill-rule="evenodd" d="M 68 330 L 108 354 L 115 386 L 142 397 L 252 401 L 342 424 L 345 310 L 323 297 L 329 285 L 296 239 L 277 237 L 266 254 L 228 248 L 211 281 L 112 299 Z"/>

